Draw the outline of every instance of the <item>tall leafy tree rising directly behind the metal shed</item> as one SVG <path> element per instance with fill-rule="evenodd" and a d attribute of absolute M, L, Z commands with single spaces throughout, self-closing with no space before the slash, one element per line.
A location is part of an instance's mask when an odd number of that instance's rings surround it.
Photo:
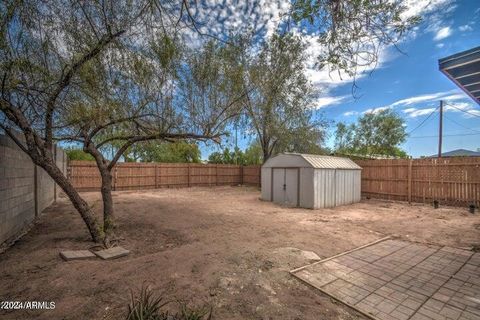
<path fill-rule="evenodd" d="M 274 34 L 247 71 L 246 125 L 255 130 L 262 160 L 283 151 L 315 152 L 327 122 L 314 120 L 314 91 L 305 74 L 305 46 L 293 34 Z"/>

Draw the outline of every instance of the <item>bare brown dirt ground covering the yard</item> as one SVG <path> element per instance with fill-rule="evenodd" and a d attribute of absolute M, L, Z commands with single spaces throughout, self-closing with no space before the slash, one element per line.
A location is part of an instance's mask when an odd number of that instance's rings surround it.
<path fill-rule="evenodd" d="M 101 210 L 99 193 L 84 197 Z M 0 310 L 2 319 L 123 319 L 132 288 L 209 303 L 214 319 L 364 319 L 288 271 L 386 235 L 454 247 L 480 244 L 480 215 L 364 200 L 334 209 L 282 208 L 254 188 L 116 192 L 128 257 L 64 262 L 63 249 L 92 246 L 67 199 L 0 254 L 0 300 L 55 301 L 54 310 Z M 298 250 L 300 249 L 300 250 Z"/>

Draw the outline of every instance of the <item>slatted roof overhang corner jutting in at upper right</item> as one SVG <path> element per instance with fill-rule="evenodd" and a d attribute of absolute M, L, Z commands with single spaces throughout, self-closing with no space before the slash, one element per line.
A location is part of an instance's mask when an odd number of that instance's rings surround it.
<path fill-rule="evenodd" d="M 480 47 L 438 60 L 440 71 L 480 104 Z"/>

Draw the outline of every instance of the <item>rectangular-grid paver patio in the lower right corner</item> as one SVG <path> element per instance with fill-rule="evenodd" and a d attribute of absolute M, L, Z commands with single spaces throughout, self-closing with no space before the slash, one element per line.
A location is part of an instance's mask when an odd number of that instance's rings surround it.
<path fill-rule="evenodd" d="M 385 240 L 292 274 L 374 319 L 480 319 L 480 253 Z"/>

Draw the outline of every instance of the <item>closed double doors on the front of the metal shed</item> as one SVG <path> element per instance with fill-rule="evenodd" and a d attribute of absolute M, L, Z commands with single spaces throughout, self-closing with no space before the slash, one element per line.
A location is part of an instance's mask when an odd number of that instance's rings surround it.
<path fill-rule="evenodd" d="M 298 205 L 298 169 L 273 168 L 273 202 Z"/>

